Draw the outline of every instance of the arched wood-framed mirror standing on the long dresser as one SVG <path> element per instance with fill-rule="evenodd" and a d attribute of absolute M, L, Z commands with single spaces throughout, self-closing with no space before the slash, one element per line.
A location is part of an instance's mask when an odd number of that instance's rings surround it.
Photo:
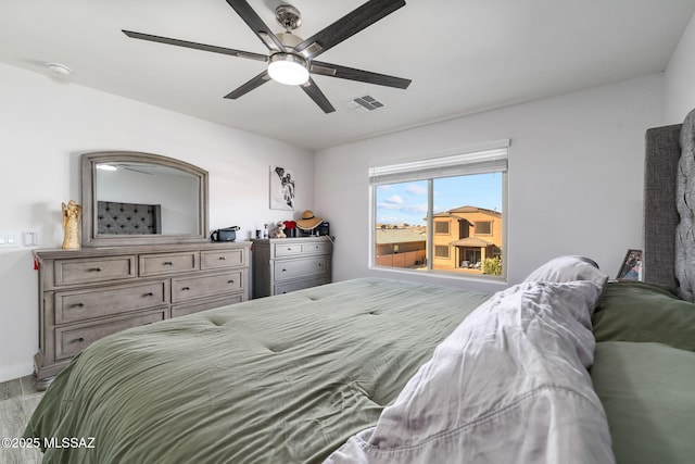
<path fill-rule="evenodd" d="M 207 240 L 207 172 L 131 151 L 81 156 L 83 247 Z"/>

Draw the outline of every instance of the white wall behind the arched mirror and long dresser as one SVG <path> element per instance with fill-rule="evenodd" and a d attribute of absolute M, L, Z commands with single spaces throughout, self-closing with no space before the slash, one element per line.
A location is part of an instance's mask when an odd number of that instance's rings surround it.
<path fill-rule="evenodd" d="M 268 209 L 270 165 L 294 170 L 295 210 L 313 209 L 304 149 L 2 64 L 0 102 L 0 231 L 36 230 L 39 248 L 62 243 L 61 202 L 80 201 L 83 152 L 146 151 L 207 170 L 210 226 L 238 225 L 241 238 L 292 218 Z M 0 248 L 0 381 L 31 373 L 37 334 L 31 250 Z"/>

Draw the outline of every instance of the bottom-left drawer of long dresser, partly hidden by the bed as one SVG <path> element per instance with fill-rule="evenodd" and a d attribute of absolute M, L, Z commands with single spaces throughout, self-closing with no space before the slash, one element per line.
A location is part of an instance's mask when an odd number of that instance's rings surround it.
<path fill-rule="evenodd" d="M 81 325 L 79 327 L 64 327 L 55 329 L 55 359 L 63 360 L 74 356 L 92 342 L 108 335 L 125 330 L 130 327 L 138 327 L 152 324 L 166 318 L 167 309 L 148 311 L 147 313 L 134 314 L 128 317 L 116 317 L 108 322 Z"/>

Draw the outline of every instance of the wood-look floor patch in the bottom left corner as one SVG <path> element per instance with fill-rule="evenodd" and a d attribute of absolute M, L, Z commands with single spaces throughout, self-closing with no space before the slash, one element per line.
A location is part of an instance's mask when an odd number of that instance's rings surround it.
<path fill-rule="evenodd" d="M 34 376 L 0 384 L 0 439 L 20 438 L 42 393 L 34 387 Z M 41 462 L 37 449 L 8 449 L 0 444 L 0 463 L 31 464 Z"/>

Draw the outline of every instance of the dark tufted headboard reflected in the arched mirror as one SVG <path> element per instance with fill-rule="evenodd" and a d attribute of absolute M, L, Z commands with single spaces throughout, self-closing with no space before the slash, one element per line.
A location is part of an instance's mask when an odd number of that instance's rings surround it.
<path fill-rule="evenodd" d="M 99 234 L 146 235 L 162 233 L 162 206 L 159 204 L 97 202 Z"/>

